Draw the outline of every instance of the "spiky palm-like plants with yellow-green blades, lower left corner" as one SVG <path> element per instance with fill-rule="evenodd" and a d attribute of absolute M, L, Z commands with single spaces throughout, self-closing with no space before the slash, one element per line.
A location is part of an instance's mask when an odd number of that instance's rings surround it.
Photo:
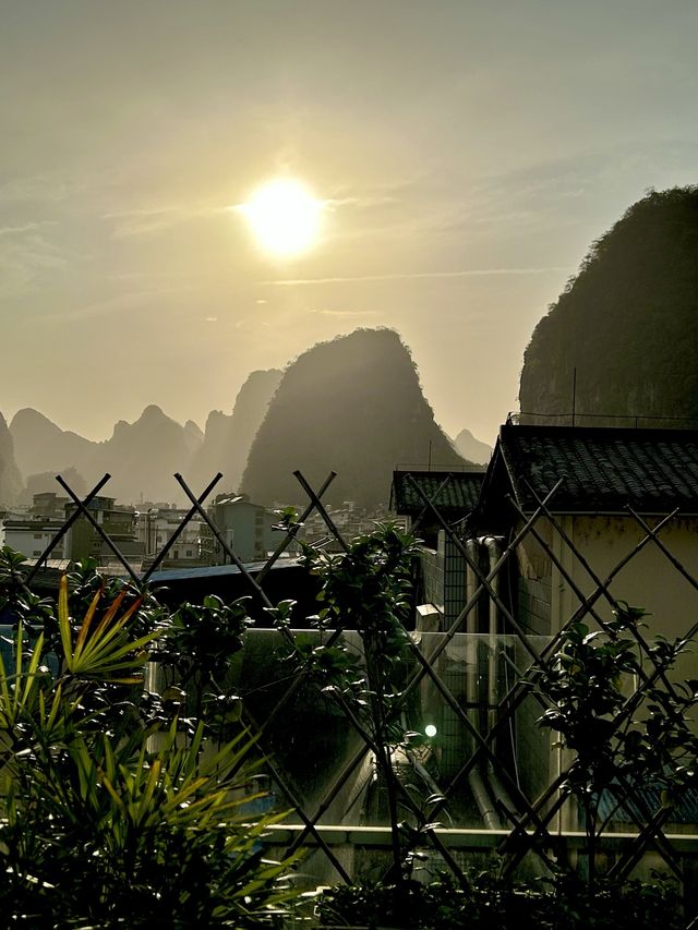
<path fill-rule="evenodd" d="M 203 718 L 182 733 L 177 705 L 143 690 L 163 629 L 142 632 L 139 612 L 157 612 L 83 581 L 79 619 L 82 582 L 71 596 L 63 578 L 53 605 L 56 675 L 41 616 L 33 636 L 19 624 L 13 667 L 0 661 L 0 913 L 31 928 L 276 926 L 292 860 L 263 858 L 278 817 L 252 811 L 253 740 L 238 727 L 216 748 Z"/>

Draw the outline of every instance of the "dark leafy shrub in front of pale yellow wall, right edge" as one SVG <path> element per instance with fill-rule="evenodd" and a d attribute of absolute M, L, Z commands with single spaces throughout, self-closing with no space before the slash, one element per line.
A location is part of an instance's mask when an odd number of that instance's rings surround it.
<path fill-rule="evenodd" d="M 672 680 L 688 643 L 658 636 L 646 644 L 641 608 L 619 602 L 614 615 L 602 630 L 591 632 L 581 623 L 565 630 L 558 651 L 533 673 L 535 687 L 552 704 L 539 723 L 571 752 L 561 787 L 585 814 L 591 885 L 604 792 L 622 807 L 647 787 L 659 789 L 669 814 L 685 788 L 698 784 L 691 724 L 698 681 Z M 651 663 L 643 667 L 648 654 Z M 653 813 L 647 811 L 645 820 Z"/>

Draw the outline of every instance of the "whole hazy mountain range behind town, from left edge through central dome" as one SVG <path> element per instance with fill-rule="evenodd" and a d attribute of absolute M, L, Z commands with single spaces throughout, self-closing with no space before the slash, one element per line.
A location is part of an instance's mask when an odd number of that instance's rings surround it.
<path fill-rule="evenodd" d="M 293 478 L 300 468 L 315 485 L 338 472 L 327 502 L 374 508 L 387 504 L 396 464 L 428 461 L 471 463 L 434 421 L 409 350 L 389 329 L 359 329 L 314 346 L 285 372 L 253 372 L 232 412 L 212 411 L 204 432 L 156 404 L 132 423 L 120 420 L 101 443 L 31 408 L 9 428 L 0 423 L 0 492 L 8 503 L 19 499 L 22 485 L 26 503 L 71 469 L 80 493 L 109 472 L 104 493 L 121 504 L 183 505 L 174 472 L 200 494 L 218 471 L 218 491 L 242 491 L 261 504 L 294 503 L 304 500 Z"/>

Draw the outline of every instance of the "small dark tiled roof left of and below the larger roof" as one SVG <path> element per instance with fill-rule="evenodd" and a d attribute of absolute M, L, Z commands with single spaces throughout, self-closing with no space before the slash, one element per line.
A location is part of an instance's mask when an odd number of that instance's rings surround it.
<path fill-rule="evenodd" d="M 394 471 L 392 506 L 400 516 L 420 514 L 425 505 L 417 484 L 444 517 L 465 517 L 478 503 L 483 478 L 482 471 Z"/>

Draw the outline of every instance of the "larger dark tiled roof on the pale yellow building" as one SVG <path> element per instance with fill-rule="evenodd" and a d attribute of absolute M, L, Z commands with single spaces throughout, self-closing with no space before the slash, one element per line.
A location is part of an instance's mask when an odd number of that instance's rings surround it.
<path fill-rule="evenodd" d="M 506 425 L 498 447 L 525 510 L 562 478 L 557 512 L 698 514 L 698 431 Z"/>

